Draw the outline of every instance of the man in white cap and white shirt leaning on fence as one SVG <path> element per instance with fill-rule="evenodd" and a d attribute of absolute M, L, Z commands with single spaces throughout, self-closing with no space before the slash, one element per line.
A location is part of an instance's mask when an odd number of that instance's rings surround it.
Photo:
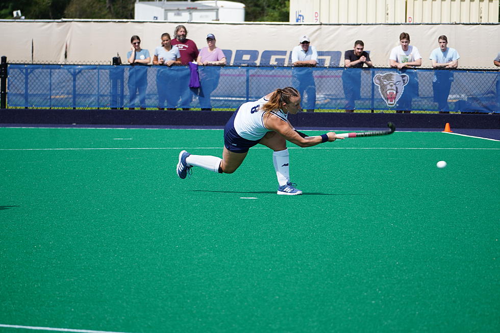
<path fill-rule="evenodd" d="M 292 86 L 304 97 L 302 100 L 303 109 L 306 112 L 314 112 L 316 108 L 316 84 L 312 68 L 309 67 L 317 65 L 318 53 L 316 47 L 310 46 L 309 37 L 302 36 L 298 42 L 299 45 L 292 49 Z"/>

